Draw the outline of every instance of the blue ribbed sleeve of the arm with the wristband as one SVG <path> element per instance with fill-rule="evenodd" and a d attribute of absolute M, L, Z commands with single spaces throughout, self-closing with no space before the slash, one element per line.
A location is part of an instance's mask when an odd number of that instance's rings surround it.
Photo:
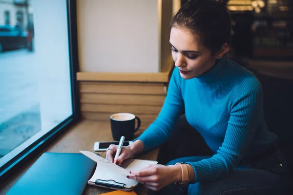
<path fill-rule="evenodd" d="M 224 142 L 217 153 L 198 162 L 187 162 L 195 173 L 194 182 L 212 181 L 226 176 L 247 151 L 262 120 L 262 87 L 253 76 L 237 78 L 232 91 L 230 118 Z"/>

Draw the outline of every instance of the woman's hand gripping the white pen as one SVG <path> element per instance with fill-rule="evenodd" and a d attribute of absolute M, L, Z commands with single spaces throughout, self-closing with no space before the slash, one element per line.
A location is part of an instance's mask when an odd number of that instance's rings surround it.
<path fill-rule="evenodd" d="M 120 165 L 123 162 L 123 160 L 144 151 L 143 142 L 137 139 L 129 146 L 126 146 L 126 147 L 123 146 L 120 156 L 118 156 L 116 159 L 116 162 L 114 162 L 114 156 L 117 152 L 117 147 L 118 145 L 113 145 L 113 144 L 110 145 L 106 153 L 106 159 L 117 165 Z"/>

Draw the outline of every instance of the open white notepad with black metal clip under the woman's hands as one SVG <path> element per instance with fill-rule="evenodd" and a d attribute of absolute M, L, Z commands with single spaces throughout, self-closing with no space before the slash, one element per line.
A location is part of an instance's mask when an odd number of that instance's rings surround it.
<path fill-rule="evenodd" d="M 129 158 L 118 166 L 101 156 L 89 151 L 80 151 L 85 156 L 97 162 L 97 167 L 94 175 L 88 180 L 88 184 L 101 186 L 110 189 L 132 191 L 139 183 L 136 180 L 128 179 L 126 176 L 131 176 L 130 170 L 140 170 L 148 165 L 157 164 L 157 161 L 140 160 Z"/>

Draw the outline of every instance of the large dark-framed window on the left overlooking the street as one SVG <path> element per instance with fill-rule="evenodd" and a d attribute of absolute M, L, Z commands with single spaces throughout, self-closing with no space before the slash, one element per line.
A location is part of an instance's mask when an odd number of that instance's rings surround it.
<path fill-rule="evenodd" d="M 1 179 L 79 118 L 75 2 L 27 2 L 25 14 L 10 5 L 17 13 L 10 22 L 24 28 L 0 19 L 0 29 L 13 29 L 0 32 Z"/>

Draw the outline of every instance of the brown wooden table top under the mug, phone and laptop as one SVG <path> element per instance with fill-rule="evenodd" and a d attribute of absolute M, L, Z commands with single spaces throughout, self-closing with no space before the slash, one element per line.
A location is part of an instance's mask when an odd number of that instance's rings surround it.
<path fill-rule="evenodd" d="M 140 130 L 135 134 L 138 137 L 149 124 L 143 123 Z M 0 186 L 0 194 L 6 194 L 10 188 L 21 178 L 21 176 L 33 165 L 33 163 L 44 152 L 56 152 L 56 153 L 79 153 L 80 150 L 93 151 L 94 142 L 96 141 L 113 141 L 110 122 L 103 121 L 90 121 L 83 120 L 74 125 L 71 129 L 67 130 L 62 136 L 58 137 L 52 144 L 45 148 L 38 156 L 31 159 L 26 165 L 24 165 L 18 173 L 11 176 L 4 184 Z M 159 149 L 155 149 L 149 153 L 135 156 L 139 159 L 157 160 Z M 96 152 L 105 157 L 105 152 Z M 113 190 L 86 185 L 84 189 L 84 195 L 99 195 Z M 145 186 L 139 184 L 135 188 L 135 192 L 139 195 L 148 194 L 148 190 Z"/>

